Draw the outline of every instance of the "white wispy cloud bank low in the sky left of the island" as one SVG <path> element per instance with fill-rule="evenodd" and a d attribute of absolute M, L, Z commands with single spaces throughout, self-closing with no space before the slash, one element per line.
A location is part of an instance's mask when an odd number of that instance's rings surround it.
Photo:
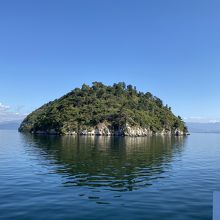
<path fill-rule="evenodd" d="M 22 120 L 27 114 L 13 111 L 10 106 L 0 102 L 0 122 Z"/>

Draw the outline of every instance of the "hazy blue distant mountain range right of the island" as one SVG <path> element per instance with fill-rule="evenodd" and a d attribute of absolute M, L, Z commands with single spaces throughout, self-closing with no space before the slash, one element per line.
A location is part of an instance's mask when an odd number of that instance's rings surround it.
<path fill-rule="evenodd" d="M 198 123 L 187 122 L 186 123 L 189 132 L 197 133 L 220 133 L 220 122 L 216 123 Z"/>

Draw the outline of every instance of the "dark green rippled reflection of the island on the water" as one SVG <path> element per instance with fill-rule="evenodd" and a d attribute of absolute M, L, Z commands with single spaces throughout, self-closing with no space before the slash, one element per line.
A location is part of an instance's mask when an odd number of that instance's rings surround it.
<path fill-rule="evenodd" d="M 24 140 L 59 165 L 66 186 L 134 190 L 164 178 L 185 137 L 32 136 Z M 166 167 L 165 167 L 166 166 Z"/>

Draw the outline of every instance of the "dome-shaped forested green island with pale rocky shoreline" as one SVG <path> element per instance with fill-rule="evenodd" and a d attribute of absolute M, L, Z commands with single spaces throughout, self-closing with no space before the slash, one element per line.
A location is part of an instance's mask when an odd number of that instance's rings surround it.
<path fill-rule="evenodd" d="M 152 136 L 187 135 L 180 116 L 151 93 L 124 82 L 93 82 L 29 114 L 20 132 L 48 135 Z"/>

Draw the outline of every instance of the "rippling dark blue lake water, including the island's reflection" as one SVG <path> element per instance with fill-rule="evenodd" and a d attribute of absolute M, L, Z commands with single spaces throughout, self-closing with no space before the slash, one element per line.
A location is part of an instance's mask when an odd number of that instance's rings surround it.
<path fill-rule="evenodd" d="M 0 219 L 211 220 L 213 191 L 220 191 L 220 134 L 0 131 Z"/>

